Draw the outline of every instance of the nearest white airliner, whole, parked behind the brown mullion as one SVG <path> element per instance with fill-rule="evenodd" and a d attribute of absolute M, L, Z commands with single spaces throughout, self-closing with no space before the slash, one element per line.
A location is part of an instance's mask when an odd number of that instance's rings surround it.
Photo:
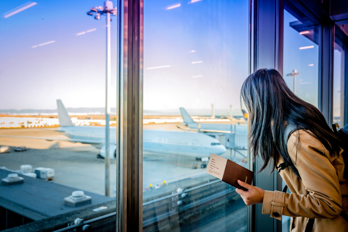
<path fill-rule="evenodd" d="M 21 137 L 40 138 L 48 141 L 69 141 L 91 144 L 100 149 L 98 158 L 105 158 L 105 128 L 100 126 L 75 126 L 66 111 L 63 102 L 57 99 L 58 120 L 60 131 L 68 139 L 44 138 L 29 136 L 3 136 L 0 137 Z M 110 127 L 110 159 L 116 158 L 116 133 L 117 128 Z M 209 157 L 211 153 L 221 155 L 226 152 L 226 147 L 221 145 L 217 139 L 200 133 L 163 130 L 143 130 L 143 151 L 186 155 L 197 158 Z"/>

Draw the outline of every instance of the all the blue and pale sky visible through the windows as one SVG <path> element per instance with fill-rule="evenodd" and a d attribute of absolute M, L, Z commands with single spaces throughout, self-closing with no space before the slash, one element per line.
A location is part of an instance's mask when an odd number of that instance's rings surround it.
<path fill-rule="evenodd" d="M 25 3 L 2 4 L 0 109 L 55 109 L 58 98 L 67 107 L 103 106 L 105 16 L 97 21 L 86 15 L 103 1 L 37 1 L 3 17 Z M 288 26 L 296 20 L 285 11 L 284 74 L 301 72 L 298 95 L 317 105 L 318 46 Z M 115 106 L 116 17 L 111 26 Z M 145 0 L 144 110 L 179 112 L 181 106 L 211 109 L 211 104 L 239 110 L 248 74 L 248 26 L 248 1 Z M 50 41 L 55 42 L 35 47 Z M 309 45 L 314 48 L 299 50 Z M 292 79 L 285 80 L 292 89 Z"/>

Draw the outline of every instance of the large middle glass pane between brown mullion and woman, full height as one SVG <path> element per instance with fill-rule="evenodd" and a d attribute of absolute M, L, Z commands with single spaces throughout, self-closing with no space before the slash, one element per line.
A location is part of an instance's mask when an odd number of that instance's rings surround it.
<path fill-rule="evenodd" d="M 144 2 L 144 231 L 247 231 L 235 188 L 206 173 L 211 153 L 247 167 L 247 74 L 248 1 Z"/>

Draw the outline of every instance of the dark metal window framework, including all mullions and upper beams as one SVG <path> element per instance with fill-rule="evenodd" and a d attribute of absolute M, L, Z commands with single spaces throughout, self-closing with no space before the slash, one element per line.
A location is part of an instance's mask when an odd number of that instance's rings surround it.
<path fill-rule="evenodd" d="M 319 83 L 318 108 L 328 123 L 332 122 L 333 104 L 333 45 L 334 21 L 327 15 L 327 5 L 318 6 L 313 1 L 301 0 L 249 0 L 249 74 L 259 68 L 275 68 L 283 74 L 284 6 L 298 9 L 301 14 L 321 25 L 319 30 Z M 118 5 L 123 13 L 119 30 L 123 41 L 118 47 L 123 51 L 119 71 L 118 102 L 118 231 L 142 231 L 142 94 L 143 94 L 143 0 L 124 0 Z M 122 15 L 122 14 L 121 14 Z M 344 46 L 345 51 L 347 46 Z M 260 58 L 262 57 L 262 59 Z M 345 64 L 348 58 L 345 56 Z M 345 70 L 345 80 L 348 69 Z M 122 77 L 122 78 L 121 78 Z M 345 85 L 344 121 L 348 121 L 348 87 Z M 248 141 L 249 142 L 249 141 Z M 250 151 L 248 159 L 251 160 Z M 262 161 L 250 163 L 255 171 L 253 185 L 267 190 L 282 191 L 282 179 L 277 172 L 267 170 L 256 174 Z M 126 194 L 127 193 L 127 194 Z M 273 228 L 282 231 L 282 222 L 262 215 L 262 205 L 248 207 L 248 231 Z"/>

